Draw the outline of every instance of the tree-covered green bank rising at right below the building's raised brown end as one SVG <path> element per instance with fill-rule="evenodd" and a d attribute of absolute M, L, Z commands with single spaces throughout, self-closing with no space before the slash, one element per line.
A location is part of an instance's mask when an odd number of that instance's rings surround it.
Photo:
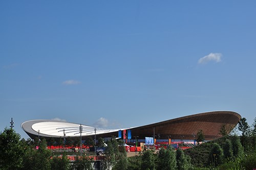
<path fill-rule="evenodd" d="M 203 169 L 256 169 L 256 118 L 251 126 L 241 118 L 230 134 L 226 125 L 220 129 L 222 138 L 185 150 L 194 167 Z M 239 131 L 241 135 L 239 136 Z"/>

